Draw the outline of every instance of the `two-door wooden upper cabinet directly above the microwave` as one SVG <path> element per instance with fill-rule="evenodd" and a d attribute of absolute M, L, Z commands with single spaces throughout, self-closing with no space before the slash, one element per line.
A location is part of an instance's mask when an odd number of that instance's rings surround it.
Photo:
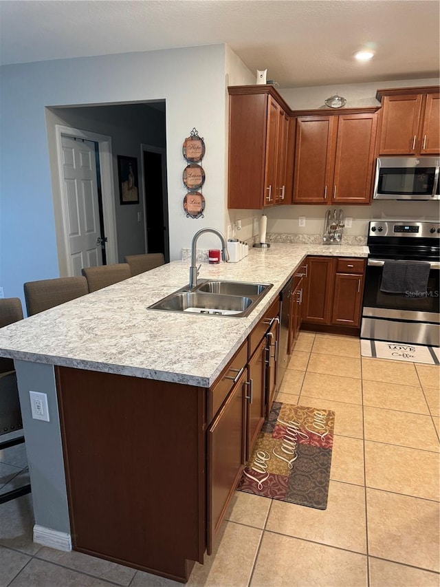
<path fill-rule="evenodd" d="M 440 153 L 438 87 L 378 89 L 379 155 Z"/>

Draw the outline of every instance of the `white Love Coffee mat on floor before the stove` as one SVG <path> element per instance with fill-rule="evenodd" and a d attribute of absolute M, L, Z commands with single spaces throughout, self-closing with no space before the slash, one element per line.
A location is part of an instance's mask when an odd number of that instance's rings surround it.
<path fill-rule="evenodd" d="M 425 345 L 362 339 L 360 341 L 360 354 L 362 356 L 375 356 L 378 359 L 440 365 L 440 349 Z"/>

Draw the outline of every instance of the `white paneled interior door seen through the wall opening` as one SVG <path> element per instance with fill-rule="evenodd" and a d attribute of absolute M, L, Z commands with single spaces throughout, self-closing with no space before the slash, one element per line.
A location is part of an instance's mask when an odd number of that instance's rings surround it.
<path fill-rule="evenodd" d="M 62 135 L 63 186 L 71 275 L 102 265 L 95 143 Z"/>

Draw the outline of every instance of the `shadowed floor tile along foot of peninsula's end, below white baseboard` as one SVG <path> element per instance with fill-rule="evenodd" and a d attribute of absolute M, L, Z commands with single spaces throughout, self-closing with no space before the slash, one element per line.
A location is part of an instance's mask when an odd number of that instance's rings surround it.
<path fill-rule="evenodd" d="M 70 553 L 56 551 L 54 548 L 47 548 L 46 546 L 40 548 L 37 556 L 39 559 L 54 562 L 61 566 L 87 573 L 88 575 L 94 575 L 94 577 L 100 577 L 100 579 L 105 581 L 114 581 L 120 585 L 129 585 L 136 572 L 134 568 L 122 566 L 104 559 L 91 557 L 75 551 Z"/>

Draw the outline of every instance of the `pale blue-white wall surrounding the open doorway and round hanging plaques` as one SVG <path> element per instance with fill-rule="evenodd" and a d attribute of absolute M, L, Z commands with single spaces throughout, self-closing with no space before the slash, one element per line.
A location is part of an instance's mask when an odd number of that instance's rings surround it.
<path fill-rule="evenodd" d="M 45 107 L 166 100 L 170 257 L 203 226 L 225 224 L 225 47 L 63 59 L 1 67 L 0 286 L 58 277 Z M 205 138 L 205 218 L 186 218 L 181 152 L 192 128 Z M 208 241 L 208 239 L 207 239 Z M 215 242 L 215 241 L 214 241 Z M 209 241 L 206 242 L 210 246 Z"/>

